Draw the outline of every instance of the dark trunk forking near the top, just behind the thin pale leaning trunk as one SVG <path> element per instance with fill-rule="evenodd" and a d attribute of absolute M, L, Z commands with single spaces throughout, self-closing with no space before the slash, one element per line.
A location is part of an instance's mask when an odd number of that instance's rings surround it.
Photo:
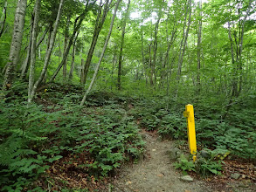
<path fill-rule="evenodd" d="M 109 0 L 106 1 L 106 3 L 104 4 L 103 13 L 101 14 L 102 0 L 100 0 L 100 6 L 99 6 L 99 10 L 98 10 L 98 15 L 97 15 L 97 18 L 96 18 L 96 24 L 94 26 L 94 31 L 93 31 L 93 40 L 92 40 L 90 49 L 89 49 L 88 54 L 87 54 L 86 63 L 84 65 L 84 70 L 83 70 L 83 74 L 82 74 L 82 77 L 81 77 L 81 84 L 82 85 L 86 84 L 87 73 L 88 73 L 89 67 L 91 65 L 91 61 L 92 61 L 92 58 L 93 58 L 93 52 L 94 52 L 95 46 L 97 45 L 97 41 L 98 41 L 98 38 L 99 38 L 99 35 L 100 35 L 100 31 L 102 29 L 102 26 L 103 26 L 105 20 L 106 20 L 107 12 L 109 10 L 109 6 L 110 6 L 111 3 L 112 3 L 112 0 L 110 2 L 109 2 Z"/>

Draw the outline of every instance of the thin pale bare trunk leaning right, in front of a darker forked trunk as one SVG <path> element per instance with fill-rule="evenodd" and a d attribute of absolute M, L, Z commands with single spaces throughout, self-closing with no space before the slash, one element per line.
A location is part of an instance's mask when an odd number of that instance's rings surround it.
<path fill-rule="evenodd" d="M 96 79 L 96 77 L 97 77 L 97 74 L 98 74 L 98 72 L 99 72 L 100 64 L 101 64 L 101 61 L 102 61 L 102 59 L 103 59 L 103 57 L 104 57 L 104 53 L 105 53 L 105 51 L 106 51 L 106 49 L 107 49 L 107 44 L 108 44 L 109 38 L 110 38 L 110 36 L 111 36 L 112 29 L 113 29 L 113 25 L 114 25 L 114 18 L 115 18 L 115 16 L 116 16 L 116 12 L 117 12 L 117 9 L 118 9 L 118 6 L 119 6 L 119 3 L 120 3 L 120 2 L 121 2 L 121 0 L 118 0 L 117 3 L 115 4 L 114 14 L 113 14 L 113 17 L 112 17 L 112 19 L 111 19 L 110 28 L 109 28 L 109 31 L 108 31 L 108 34 L 107 34 L 107 38 L 106 38 L 105 44 L 104 44 L 104 46 L 103 46 L 103 50 L 102 50 L 102 52 L 101 52 L 101 54 L 100 54 L 100 60 L 99 60 L 98 64 L 97 64 L 96 67 L 95 67 L 95 71 L 94 71 L 94 74 L 93 74 L 93 79 L 92 79 L 91 84 L 90 84 L 90 86 L 88 87 L 88 89 L 87 89 L 87 91 L 86 91 L 86 93 L 85 93 L 85 95 L 84 95 L 84 97 L 83 97 L 83 99 L 82 99 L 82 101 L 81 101 L 81 103 L 80 103 L 80 106 L 83 106 L 83 105 L 85 104 L 85 102 L 86 102 L 86 97 L 87 97 L 87 95 L 91 92 L 91 89 L 92 89 L 92 87 L 93 87 L 93 84 L 94 84 L 94 82 L 95 82 L 95 79 Z"/>

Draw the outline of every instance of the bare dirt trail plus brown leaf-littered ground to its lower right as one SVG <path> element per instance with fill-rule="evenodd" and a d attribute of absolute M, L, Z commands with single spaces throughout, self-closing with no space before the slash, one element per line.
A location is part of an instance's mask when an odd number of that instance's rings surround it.
<path fill-rule="evenodd" d="M 220 178 L 200 179 L 192 174 L 193 182 L 181 180 L 183 174 L 176 170 L 169 152 L 174 141 L 159 139 L 157 134 L 142 132 L 146 141 L 145 153 L 137 163 L 124 165 L 112 181 L 114 192 L 208 192 L 208 191 L 256 191 L 255 183 L 243 186 L 244 182 L 221 182 Z"/>

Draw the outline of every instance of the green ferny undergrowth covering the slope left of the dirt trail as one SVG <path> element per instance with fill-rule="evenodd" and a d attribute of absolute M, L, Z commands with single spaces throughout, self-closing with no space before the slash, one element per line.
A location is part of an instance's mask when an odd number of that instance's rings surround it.
<path fill-rule="evenodd" d="M 49 97 L 43 94 L 38 98 Z M 52 101 L 28 106 L 23 99 L 1 100 L 0 189 L 33 189 L 31 183 L 51 170 L 52 163 L 71 156 L 83 154 L 80 169 L 88 178 L 100 178 L 142 154 L 138 127 L 121 105 L 81 108 L 74 102 L 78 97 L 66 94 L 49 106 Z"/>

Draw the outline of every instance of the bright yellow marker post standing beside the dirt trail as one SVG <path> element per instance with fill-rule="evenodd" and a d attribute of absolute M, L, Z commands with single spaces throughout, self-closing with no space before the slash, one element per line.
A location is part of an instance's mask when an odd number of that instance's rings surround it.
<path fill-rule="evenodd" d="M 193 161 L 197 159 L 197 141 L 196 141 L 196 128 L 195 128 L 195 118 L 194 118 L 194 108 L 192 105 L 186 106 L 186 111 L 183 113 L 184 117 L 187 118 L 188 123 L 188 138 L 190 146 L 190 154 L 193 155 Z"/>

